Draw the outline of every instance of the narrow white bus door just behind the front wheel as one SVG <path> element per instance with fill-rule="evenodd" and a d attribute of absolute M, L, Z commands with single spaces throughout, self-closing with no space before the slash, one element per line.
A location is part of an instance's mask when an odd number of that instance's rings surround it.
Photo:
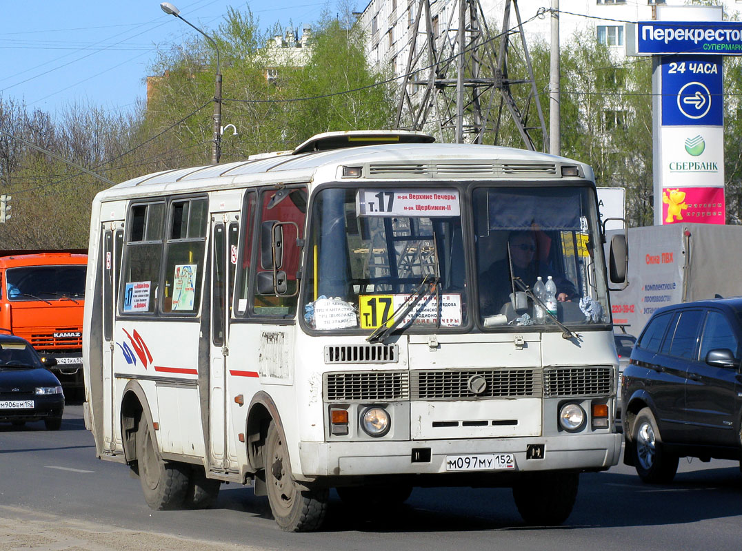
<path fill-rule="evenodd" d="M 236 212 L 220 213 L 211 222 L 211 370 L 209 397 L 210 463 L 216 469 L 237 469 L 237 451 L 233 438 L 228 438 L 229 321 L 232 317 L 232 289 L 237 268 L 237 245 L 240 235 Z"/>

